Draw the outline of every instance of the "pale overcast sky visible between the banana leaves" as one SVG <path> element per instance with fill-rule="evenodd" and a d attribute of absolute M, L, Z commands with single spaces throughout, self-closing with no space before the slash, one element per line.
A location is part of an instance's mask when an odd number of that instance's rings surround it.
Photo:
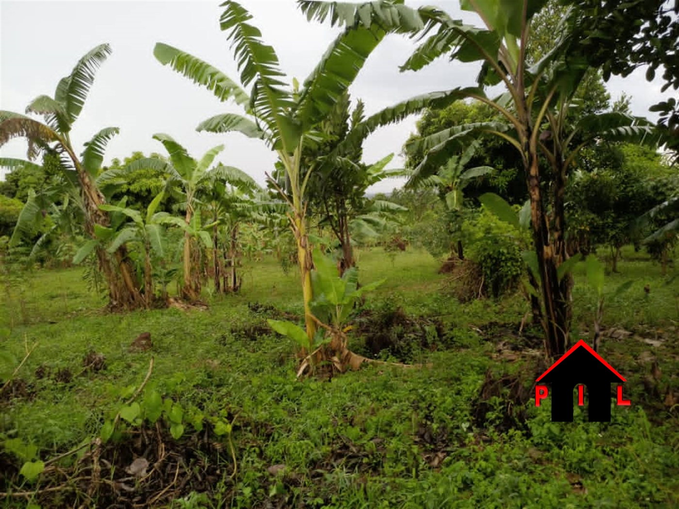
<path fill-rule="evenodd" d="M 153 140 L 165 132 L 200 158 L 215 145 L 224 144 L 219 160 L 251 174 L 260 184 L 270 171 L 274 154 L 260 140 L 232 134 L 196 132 L 198 123 L 217 113 L 238 107 L 221 103 L 210 92 L 163 67 L 153 57 L 153 46 L 164 42 L 194 54 L 237 79 L 226 34 L 219 29 L 223 8 L 219 1 L 10 1 L 0 0 L 0 109 L 23 113 L 36 96 L 54 96 L 59 79 L 68 75 L 77 60 L 95 45 L 107 42 L 113 54 L 99 69 L 94 86 L 71 132 L 76 151 L 98 130 L 117 126 L 107 149 L 105 164 L 133 151 L 164 153 Z M 462 12 L 457 1 L 408 1 L 413 7 L 433 4 L 454 18 L 477 24 Z M 312 71 L 339 29 L 308 22 L 293 0 L 244 0 L 265 43 L 273 45 L 284 72 L 299 81 Z M 414 42 L 401 35 L 386 37 L 367 60 L 350 89 L 352 98 L 365 102 L 367 114 L 395 102 L 434 90 L 448 90 L 474 83 L 479 64 L 451 64 L 447 58 L 418 73 L 399 73 Z M 608 83 L 612 100 L 622 92 L 632 96 L 632 112 L 646 115 L 659 100 L 659 82 L 648 83 L 644 71 Z M 415 130 L 416 117 L 382 128 L 365 142 L 365 162 L 401 151 Z M 0 157 L 25 157 L 26 142 L 12 140 L 0 149 Z M 394 157 L 392 167 L 403 166 Z M 399 181 L 378 184 L 372 191 L 390 191 Z"/>

